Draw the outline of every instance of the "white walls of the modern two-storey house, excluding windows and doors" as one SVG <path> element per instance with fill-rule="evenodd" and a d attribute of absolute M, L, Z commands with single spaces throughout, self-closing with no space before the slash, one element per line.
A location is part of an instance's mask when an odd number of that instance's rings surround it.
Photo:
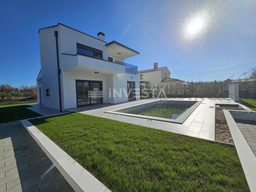
<path fill-rule="evenodd" d="M 77 107 L 76 80 L 101 82 L 103 102 L 108 103 L 128 101 L 127 94 L 122 93 L 121 96 L 115 97 L 110 94 L 113 89 L 126 90 L 127 93 L 128 81 L 134 82 L 135 88 L 139 88 L 139 76 L 126 73 L 126 66 L 123 63 L 125 58 L 138 55 L 139 52 L 118 42 L 107 44 L 103 33 L 94 38 L 63 24 L 57 24 L 42 28 L 38 32 L 41 59 L 41 71 L 37 78 L 38 103 L 42 101 L 45 107 L 60 110 L 55 31 L 58 32 L 62 110 Z M 102 58 L 78 53 L 77 44 L 100 50 Z M 108 57 L 111 57 L 113 62 L 108 61 Z M 50 96 L 47 96 L 47 89 L 50 89 Z M 139 100 L 139 94 L 134 94 L 132 99 Z"/>

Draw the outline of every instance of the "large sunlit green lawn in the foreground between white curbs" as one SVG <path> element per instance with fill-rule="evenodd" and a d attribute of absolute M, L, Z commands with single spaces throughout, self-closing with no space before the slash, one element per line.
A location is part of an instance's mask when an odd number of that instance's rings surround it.
<path fill-rule="evenodd" d="M 228 144 L 79 113 L 30 122 L 113 192 L 249 192 Z"/>

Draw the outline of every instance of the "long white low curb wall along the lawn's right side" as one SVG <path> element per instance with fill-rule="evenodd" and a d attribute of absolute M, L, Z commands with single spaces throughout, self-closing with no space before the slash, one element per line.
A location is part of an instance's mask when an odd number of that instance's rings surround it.
<path fill-rule="evenodd" d="M 256 192 L 256 156 L 236 124 L 229 110 L 223 110 L 236 152 L 242 164 L 244 175 L 251 192 Z"/>

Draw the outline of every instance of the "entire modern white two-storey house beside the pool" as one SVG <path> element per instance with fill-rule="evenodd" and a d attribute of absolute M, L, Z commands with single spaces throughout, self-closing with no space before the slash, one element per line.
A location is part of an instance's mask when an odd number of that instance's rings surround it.
<path fill-rule="evenodd" d="M 125 58 L 139 52 L 116 41 L 105 42 L 102 32 L 95 38 L 60 23 L 41 28 L 38 34 L 41 60 L 36 79 L 38 103 L 64 111 L 140 99 L 134 91 L 139 88 L 137 66 L 124 63 Z"/>

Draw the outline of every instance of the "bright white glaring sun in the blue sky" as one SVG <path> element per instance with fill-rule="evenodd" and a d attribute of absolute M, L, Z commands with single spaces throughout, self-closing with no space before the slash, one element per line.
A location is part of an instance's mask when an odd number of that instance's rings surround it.
<path fill-rule="evenodd" d="M 204 19 L 201 17 L 196 17 L 191 19 L 186 26 L 186 33 L 188 36 L 195 36 L 202 31 L 204 27 Z"/>

